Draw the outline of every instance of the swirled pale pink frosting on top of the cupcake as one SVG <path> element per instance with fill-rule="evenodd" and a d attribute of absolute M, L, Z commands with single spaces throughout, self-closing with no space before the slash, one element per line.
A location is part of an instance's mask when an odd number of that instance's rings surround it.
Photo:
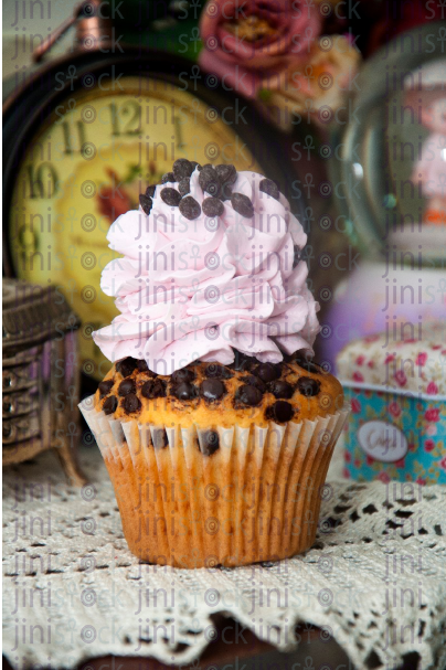
<path fill-rule="evenodd" d="M 190 195 L 201 204 L 208 195 L 199 174 Z M 100 286 L 121 313 L 93 333 L 106 358 L 145 359 L 153 372 L 171 374 L 194 360 L 232 363 L 233 348 L 262 362 L 312 352 L 319 306 L 306 263 L 293 267 L 294 247 L 307 235 L 282 194 L 259 190 L 262 179 L 238 172 L 233 185 L 251 199 L 252 219 L 226 200 L 221 216 L 202 212 L 190 221 L 162 201 L 163 184 L 148 216 L 134 210 L 115 221 L 107 240 L 124 258 L 104 268 Z"/>

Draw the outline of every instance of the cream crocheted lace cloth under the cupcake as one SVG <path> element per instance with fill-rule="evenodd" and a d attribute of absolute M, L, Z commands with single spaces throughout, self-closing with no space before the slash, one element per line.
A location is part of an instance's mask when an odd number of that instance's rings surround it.
<path fill-rule="evenodd" d="M 193 661 L 211 615 L 280 650 L 305 623 L 358 668 L 417 652 L 446 667 L 446 487 L 331 480 L 305 555 L 229 570 L 139 564 L 96 446 L 71 488 L 50 453 L 3 470 L 3 653 L 13 667 L 73 668 L 108 653 Z M 332 470 L 331 470 L 332 471 Z"/>

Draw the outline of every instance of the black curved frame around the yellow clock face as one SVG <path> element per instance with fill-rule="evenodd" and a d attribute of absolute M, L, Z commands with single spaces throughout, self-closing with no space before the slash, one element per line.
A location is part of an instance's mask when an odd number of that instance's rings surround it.
<path fill-rule="evenodd" d="M 73 66 L 76 68 L 75 81 L 73 76 L 70 77 L 70 73 L 74 72 L 70 71 L 70 67 Z M 291 211 L 304 221 L 304 196 L 291 196 L 290 184 L 296 177 L 296 167 L 290 159 L 293 142 L 289 136 L 267 124 L 252 103 L 224 91 L 219 83 L 214 85 L 213 75 L 172 54 L 141 51 L 132 46 L 126 46 L 123 54 L 112 56 L 102 52 L 81 52 L 53 60 L 40 67 L 26 84 L 10 94 L 3 104 L 3 274 L 14 276 L 9 212 L 14 179 L 29 143 L 55 107 L 82 88 L 82 79 L 86 74 L 97 77 L 103 73 L 114 73 L 115 76 L 120 73 L 128 76 L 150 76 L 170 83 L 181 82 L 182 86 L 190 83 L 191 86 L 187 88 L 189 93 L 215 108 L 219 115 L 224 110 L 225 123 L 247 145 L 267 177 L 277 181 L 290 202 Z"/>

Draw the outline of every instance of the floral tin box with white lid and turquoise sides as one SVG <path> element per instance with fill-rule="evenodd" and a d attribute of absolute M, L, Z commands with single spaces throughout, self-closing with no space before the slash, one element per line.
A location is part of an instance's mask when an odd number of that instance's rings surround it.
<path fill-rule="evenodd" d="M 339 353 L 351 403 L 346 477 L 446 483 L 445 329 L 423 326 L 420 340 L 369 336 Z"/>

